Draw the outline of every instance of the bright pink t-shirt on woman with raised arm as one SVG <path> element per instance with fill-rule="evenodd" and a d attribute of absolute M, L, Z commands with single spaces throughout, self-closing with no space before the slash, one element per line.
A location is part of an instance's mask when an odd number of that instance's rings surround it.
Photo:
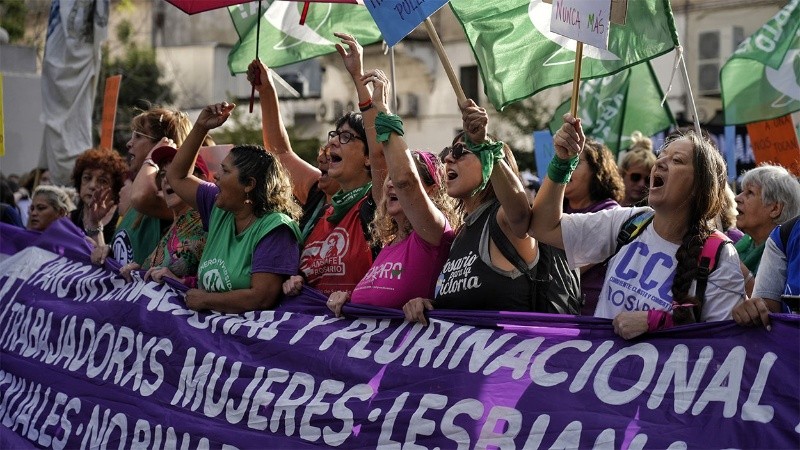
<path fill-rule="evenodd" d="M 433 288 L 450 253 L 455 233 L 445 223 L 442 240 L 433 246 L 416 231 L 384 247 L 358 282 L 350 301 L 400 309 L 415 297 L 433 298 Z"/>

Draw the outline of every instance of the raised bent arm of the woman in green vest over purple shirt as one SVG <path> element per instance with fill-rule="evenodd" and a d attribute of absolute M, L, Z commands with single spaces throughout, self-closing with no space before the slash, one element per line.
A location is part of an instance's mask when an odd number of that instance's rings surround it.
<path fill-rule="evenodd" d="M 235 107 L 236 105 L 233 103 L 222 102 L 203 108 L 192 131 L 186 136 L 183 144 L 178 148 L 172 164 L 167 168 L 167 180 L 169 180 L 170 186 L 183 201 L 194 209 L 197 209 L 197 188 L 202 183 L 200 178 L 192 175 L 197 152 L 208 131 L 225 123 Z"/>

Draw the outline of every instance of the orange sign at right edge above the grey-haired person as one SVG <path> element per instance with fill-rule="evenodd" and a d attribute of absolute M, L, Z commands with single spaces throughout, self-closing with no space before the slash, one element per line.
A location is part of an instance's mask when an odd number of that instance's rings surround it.
<path fill-rule="evenodd" d="M 757 163 L 780 164 L 800 176 L 800 145 L 791 115 L 748 123 L 747 134 Z"/>

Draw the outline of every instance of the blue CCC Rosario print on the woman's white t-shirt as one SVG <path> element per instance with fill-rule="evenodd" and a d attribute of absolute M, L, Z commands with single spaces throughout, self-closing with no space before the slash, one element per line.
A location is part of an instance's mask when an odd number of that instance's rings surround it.
<path fill-rule="evenodd" d="M 640 241 L 623 249 L 608 277 L 608 298 L 626 311 L 670 310 L 675 259 Z"/>

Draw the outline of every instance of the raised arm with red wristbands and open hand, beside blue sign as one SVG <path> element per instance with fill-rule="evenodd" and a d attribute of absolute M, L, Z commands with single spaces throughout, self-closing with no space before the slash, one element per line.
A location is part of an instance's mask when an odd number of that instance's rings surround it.
<path fill-rule="evenodd" d="M 336 44 L 336 51 L 342 57 L 345 69 L 353 79 L 358 93 L 358 105 L 364 120 L 364 129 L 367 133 L 367 146 L 369 147 L 369 168 L 372 176 L 372 198 L 377 204 L 383 196 L 383 180 L 386 179 L 386 159 L 383 155 L 383 145 L 378 142 L 375 133 L 375 117 L 378 111 L 372 105 L 372 92 L 369 83 L 371 80 L 364 76 L 364 49 L 355 37 L 345 33 L 334 33 L 341 39 Z M 347 48 L 345 48 L 347 46 Z"/>

